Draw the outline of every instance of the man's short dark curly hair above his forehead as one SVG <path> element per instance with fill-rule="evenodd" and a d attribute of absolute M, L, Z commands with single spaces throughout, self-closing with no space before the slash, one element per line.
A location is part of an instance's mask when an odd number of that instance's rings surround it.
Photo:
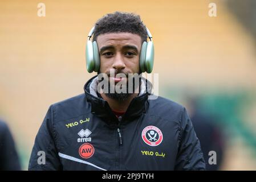
<path fill-rule="evenodd" d="M 147 29 L 140 15 L 116 11 L 107 14 L 95 23 L 93 41 L 96 41 L 100 34 L 110 32 L 129 32 L 140 35 L 142 42 L 147 42 Z"/>

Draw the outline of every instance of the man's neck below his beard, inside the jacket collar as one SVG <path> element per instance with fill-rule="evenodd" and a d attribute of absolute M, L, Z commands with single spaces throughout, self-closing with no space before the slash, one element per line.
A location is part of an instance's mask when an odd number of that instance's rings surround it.
<path fill-rule="evenodd" d="M 131 104 L 133 98 L 138 96 L 138 93 L 133 93 L 125 101 L 117 101 L 112 98 L 107 97 L 104 93 L 100 94 L 101 97 L 108 102 L 109 107 L 116 112 L 125 112 L 128 109 L 128 106 Z"/>

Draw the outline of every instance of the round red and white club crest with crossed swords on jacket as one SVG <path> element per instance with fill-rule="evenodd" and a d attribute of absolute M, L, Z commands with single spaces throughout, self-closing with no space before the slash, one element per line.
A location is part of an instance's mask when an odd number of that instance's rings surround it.
<path fill-rule="evenodd" d="M 162 142 L 162 131 L 156 126 L 147 126 L 143 129 L 141 137 L 149 146 L 158 146 Z"/>

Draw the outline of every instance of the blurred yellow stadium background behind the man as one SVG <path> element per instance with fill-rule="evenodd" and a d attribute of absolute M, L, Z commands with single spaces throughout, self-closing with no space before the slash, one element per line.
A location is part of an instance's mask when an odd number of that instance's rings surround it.
<path fill-rule="evenodd" d="M 45 17 L 37 15 L 39 2 L 46 5 Z M 217 5 L 217 17 L 208 15 L 210 2 Z M 224 1 L 2 0 L 0 117 L 14 134 L 23 169 L 48 106 L 83 93 L 84 83 L 95 75 L 86 71 L 87 34 L 97 19 L 114 11 L 139 14 L 151 30 L 160 94 L 166 87 L 188 94 L 255 90 L 253 38 Z M 245 122 L 255 134 L 255 102 L 250 108 Z M 255 153 L 241 138 L 227 145 L 221 169 L 256 169 Z"/>

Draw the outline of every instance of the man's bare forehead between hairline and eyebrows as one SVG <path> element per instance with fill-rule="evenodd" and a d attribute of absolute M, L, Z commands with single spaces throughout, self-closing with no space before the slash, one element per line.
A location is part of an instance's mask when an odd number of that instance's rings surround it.
<path fill-rule="evenodd" d="M 139 49 L 141 46 L 141 37 L 129 32 L 100 34 L 96 40 L 99 48 L 103 46 L 125 46 L 129 44 Z"/>

